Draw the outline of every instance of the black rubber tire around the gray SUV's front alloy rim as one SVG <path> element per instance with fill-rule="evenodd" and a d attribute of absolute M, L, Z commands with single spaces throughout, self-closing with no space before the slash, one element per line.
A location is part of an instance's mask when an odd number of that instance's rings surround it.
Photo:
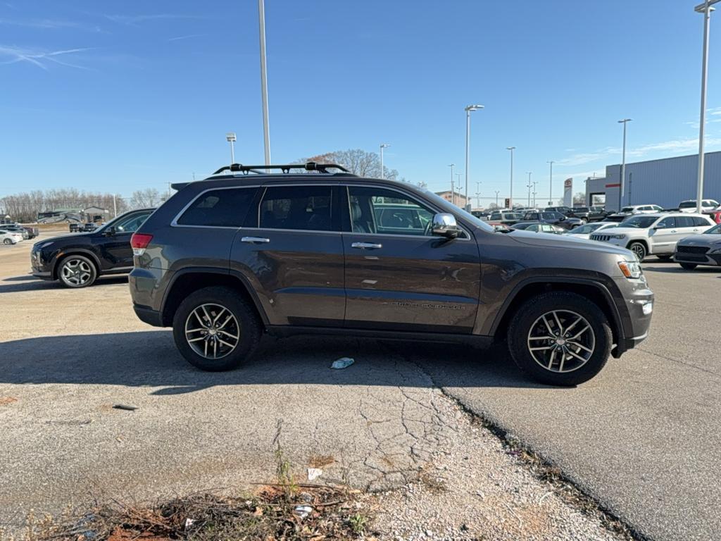
<path fill-rule="evenodd" d="M 559 320 L 562 325 L 567 322 L 563 319 L 565 314 L 572 313 L 570 317 L 580 316 L 588 322 L 590 331 L 587 331 L 586 337 L 593 337 L 593 351 L 585 360 L 584 364 L 579 364 L 575 369 L 568 371 L 551 370 L 547 367 L 541 366 L 539 361 L 534 359 L 534 353 L 530 351 L 528 344 L 532 340 L 539 340 L 538 338 L 530 339 L 529 337 L 532 332 L 535 332 L 539 327 L 539 320 L 543 315 L 549 312 L 559 312 Z M 552 325 L 556 325 L 552 322 Z M 584 325 L 583 322 L 581 325 Z M 572 322 L 568 322 L 568 327 L 572 326 Z M 545 331 L 544 331 L 545 332 Z M 550 331 L 549 331 L 550 332 Z M 575 331 L 574 331 L 575 332 Z M 603 311 L 593 302 L 590 302 L 585 297 L 575 293 L 567 293 L 564 291 L 557 291 L 553 293 L 541 294 L 529 299 L 521 307 L 518 308 L 516 315 L 513 316 L 513 320 L 510 322 L 508 327 L 508 347 L 510 354 L 513 357 L 513 361 L 516 362 L 518 368 L 525 372 L 533 379 L 538 382 L 549 384 L 549 385 L 578 385 L 583 382 L 587 382 L 592 377 L 596 376 L 598 372 L 603 369 L 606 365 L 606 361 L 609 359 L 611 353 L 611 345 L 613 343 L 613 334 L 611 333 L 611 326 L 603 314 Z M 582 338 L 583 340 L 583 338 Z M 565 340 L 561 340 L 565 343 Z M 548 340 L 550 342 L 550 340 Z M 533 343 L 536 343 L 535 341 Z M 543 344 L 546 344 L 544 341 Z M 588 343 L 585 344 L 588 346 Z M 557 347 L 555 343 L 550 347 Z M 582 350 L 577 349 L 575 353 L 580 353 Z M 536 353 L 538 354 L 538 353 Z M 585 355 L 585 353 L 581 353 Z M 565 361 L 565 354 L 563 359 L 559 363 Z M 568 357 L 570 363 L 578 364 L 578 361 L 573 360 L 572 357 Z M 552 366 L 554 359 L 551 358 Z M 570 366 L 574 366 L 570 364 Z"/>

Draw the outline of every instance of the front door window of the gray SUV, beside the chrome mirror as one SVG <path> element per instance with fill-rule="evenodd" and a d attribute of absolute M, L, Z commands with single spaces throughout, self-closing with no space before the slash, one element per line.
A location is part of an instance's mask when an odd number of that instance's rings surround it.
<path fill-rule="evenodd" d="M 349 186 L 348 207 L 354 233 L 430 234 L 433 211 L 394 190 Z"/>

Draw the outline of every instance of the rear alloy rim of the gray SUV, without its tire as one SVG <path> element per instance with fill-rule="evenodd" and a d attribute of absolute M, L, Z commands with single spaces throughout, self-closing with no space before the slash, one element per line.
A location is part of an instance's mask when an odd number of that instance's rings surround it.
<path fill-rule="evenodd" d="M 185 340 L 204 359 L 222 359 L 240 342 L 240 325 L 221 304 L 200 304 L 185 320 Z"/>

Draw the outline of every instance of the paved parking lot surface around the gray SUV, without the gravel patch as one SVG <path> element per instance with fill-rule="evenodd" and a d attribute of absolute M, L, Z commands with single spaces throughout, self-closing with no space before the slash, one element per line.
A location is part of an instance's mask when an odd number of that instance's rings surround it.
<path fill-rule="evenodd" d="M 29 245 L 0 250 L 1 523 L 96 497 L 267 481 L 278 446 L 299 467 L 333 457 L 325 480 L 397 486 L 448 437 L 443 390 L 643 535 L 721 531 L 716 269 L 650 258 L 650 338 L 587 384 L 558 389 L 523 379 L 499 348 L 376 340 L 268 341 L 242 369 L 203 373 L 168 330 L 136 319 L 125 278 L 81 290 L 37 281 Z M 356 362 L 329 370 L 340 356 Z"/>

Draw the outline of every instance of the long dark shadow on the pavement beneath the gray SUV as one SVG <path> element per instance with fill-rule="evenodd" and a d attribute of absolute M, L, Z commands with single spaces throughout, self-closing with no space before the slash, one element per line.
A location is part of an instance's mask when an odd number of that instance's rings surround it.
<path fill-rule="evenodd" d="M 331 369 L 332 361 L 342 356 L 352 357 L 355 364 Z M 177 395 L 220 385 L 547 387 L 523 377 L 502 347 L 318 336 L 262 340 L 259 351 L 239 369 L 204 372 L 180 356 L 169 330 L 3 342 L 3 383 L 157 387 L 150 390 L 151 395 Z"/>

